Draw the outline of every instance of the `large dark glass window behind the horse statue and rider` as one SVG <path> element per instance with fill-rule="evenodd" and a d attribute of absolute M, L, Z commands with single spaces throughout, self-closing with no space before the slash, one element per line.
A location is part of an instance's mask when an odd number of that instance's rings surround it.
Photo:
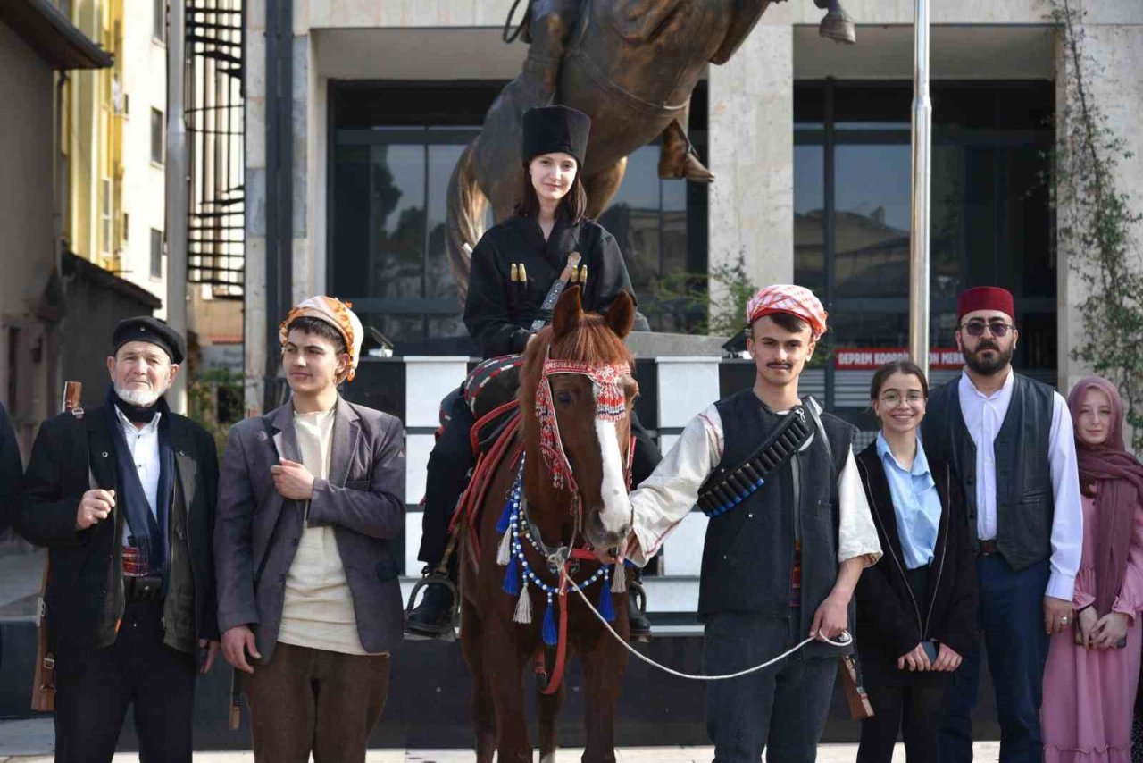
<path fill-rule="evenodd" d="M 448 182 L 502 84 L 346 82 L 331 88 L 329 279 L 399 355 L 475 353 L 445 249 Z M 447 111 L 441 104 L 449 104 Z M 705 88 L 692 138 L 705 143 Z M 653 328 L 686 331 L 704 310 L 676 299 L 706 271 L 706 191 L 661 181 L 658 146 L 628 160 L 599 222 L 616 238 Z M 491 224 L 491 218 L 486 221 Z"/>

